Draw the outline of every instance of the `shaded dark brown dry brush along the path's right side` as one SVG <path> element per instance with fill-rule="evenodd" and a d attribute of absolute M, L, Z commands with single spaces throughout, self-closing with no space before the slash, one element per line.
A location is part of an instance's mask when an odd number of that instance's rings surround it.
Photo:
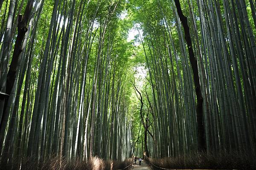
<path fill-rule="evenodd" d="M 252 153 L 192 153 L 174 158 L 152 159 L 158 167 L 170 169 L 236 169 L 256 170 L 256 155 Z"/>

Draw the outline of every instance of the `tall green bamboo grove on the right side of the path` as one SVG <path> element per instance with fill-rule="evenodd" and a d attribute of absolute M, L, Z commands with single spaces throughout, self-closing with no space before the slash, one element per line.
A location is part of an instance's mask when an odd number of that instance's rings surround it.
<path fill-rule="evenodd" d="M 144 119 L 151 113 L 154 124 L 144 126 L 153 133 L 147 132 L 144 148 L 151 148 L 147 155 L 160 158 L 202 149 L 255 152 L 255 1 L 180 1 L 190 28 L 189 48 L 198 60 L 205 149 L 198 147 L 195 75 L 177 2 L 137 1 L 133 9 L 143 29 L 140 50 L 145 53 L 150 85 L 143 90 Z"/>

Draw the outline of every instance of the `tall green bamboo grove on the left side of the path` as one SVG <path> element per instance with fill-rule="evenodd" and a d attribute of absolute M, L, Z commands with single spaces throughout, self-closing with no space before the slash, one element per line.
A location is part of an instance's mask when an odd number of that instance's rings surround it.
<path fill-rule="evenodd" d="M 2 163 L 21 156 L 129 157 L 131 43 L 118 19 L 123 7 L 119 1 L 3 2 L 2 92 L 10 87 L 7 66 L 15 58 L 15 28 L 26 15 L 29 25 L 13 87 L 0 103 Z M 29 10 L 20 21 L 14 16 L 23 8 Z"/>

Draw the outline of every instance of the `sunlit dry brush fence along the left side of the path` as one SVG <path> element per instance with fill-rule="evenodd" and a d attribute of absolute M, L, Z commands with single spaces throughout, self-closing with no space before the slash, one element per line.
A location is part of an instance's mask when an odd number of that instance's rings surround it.
<path fill-rule="evenodd" d="M 65 158 L 50 157 L 44 161 L 36 161 L 34 158 L 15 159 L 13 163 L 0 164 L 2 170 L 116 170 L 131 164 L 131 158 L 125 161 L 105 161 L 98 157 L 91 157 L 86 161 L 80 159 L 68 161 Z"/>

